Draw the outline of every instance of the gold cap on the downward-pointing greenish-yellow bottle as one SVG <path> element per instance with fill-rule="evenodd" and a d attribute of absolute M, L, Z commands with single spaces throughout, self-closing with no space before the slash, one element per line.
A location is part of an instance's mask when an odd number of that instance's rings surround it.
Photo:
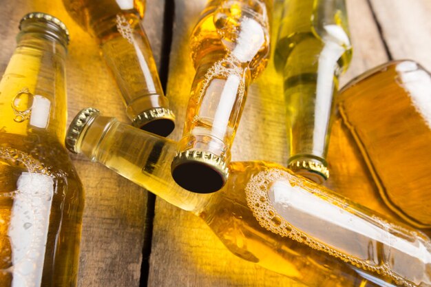
<path fill-rule="evenodd" d="M 289 162 L 288 168 L 319 184 L 329 178 L 328 168 L 317 160 L 293 160 Z"/>

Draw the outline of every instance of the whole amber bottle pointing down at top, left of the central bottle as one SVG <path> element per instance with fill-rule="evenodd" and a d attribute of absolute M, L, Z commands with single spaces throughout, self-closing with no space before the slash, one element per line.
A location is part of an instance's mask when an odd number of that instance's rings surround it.
<path fill-rule="evenodd" d="M 120 87 L 132 125 L 160 136 L 174 130 L 141 20 L 145 0 L 63 0 L 72 18 L 95 36 Z"/>

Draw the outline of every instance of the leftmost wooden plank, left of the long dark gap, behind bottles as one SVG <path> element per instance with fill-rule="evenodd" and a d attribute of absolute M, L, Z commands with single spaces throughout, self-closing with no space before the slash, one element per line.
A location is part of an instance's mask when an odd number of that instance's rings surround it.
<path fill-rule="evenodd" d="M 164 1 L 147 1 L 144 25 L 160 59 Z M 6 68 L 15 47 L 19 19 L 32 11 L 54 14 L 70 30 L 67 57 L 69 120 L 83 107 L 127 122 L 120 92 L 98 45 L 67 15 L 61 1 L 3 1 L 0 8 L 0 68 Z M 25 67 L 23 67 L 25 68 Z M 85 188 L 85 211 L 78 286 L 139 286 L 143 245 L 146 244 L 147 193 L 105 167 L 74 156 Z"/>

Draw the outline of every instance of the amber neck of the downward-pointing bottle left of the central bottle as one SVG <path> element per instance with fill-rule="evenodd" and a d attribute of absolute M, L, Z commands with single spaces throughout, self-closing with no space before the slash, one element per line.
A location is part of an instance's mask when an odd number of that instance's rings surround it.
<path fill-rule="evenodd" d="M 136 14 L 118 13 L 109 21 L 112 23 L 99 34 L 103 58 L 120 88 L 127 116 L 142 127 L 147 123 L 145 118 L 156 118 L 159 111 L 169 110 L 169 101 L 140 19 Z"/>

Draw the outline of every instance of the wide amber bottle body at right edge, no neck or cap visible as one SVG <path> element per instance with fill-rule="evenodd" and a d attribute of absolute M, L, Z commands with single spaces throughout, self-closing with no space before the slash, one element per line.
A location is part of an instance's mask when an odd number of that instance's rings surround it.
<path fill-rule="evenodd" d="M 355 78 L 337 96 L 328 155 L 334 173 L 330 187 L 428 228 L 428 234 L 430 91 L 430 73 L 413 61 L 386 63 Z"/>

